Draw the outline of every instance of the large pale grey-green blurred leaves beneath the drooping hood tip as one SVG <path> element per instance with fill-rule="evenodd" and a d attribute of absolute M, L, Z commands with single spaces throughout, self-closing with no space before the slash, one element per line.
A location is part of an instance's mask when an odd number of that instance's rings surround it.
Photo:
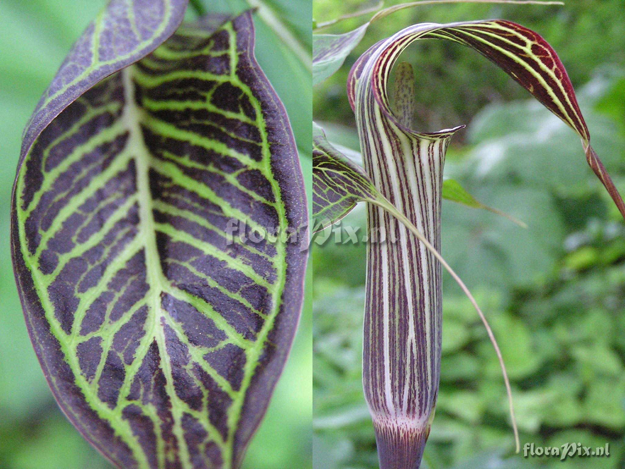
<path fill-rule="evenodd" d="M 578 96 L 594 145 L 606 155 L 606 168 L 615 174 L 622 191 L 624 135 L 596 108 L 601 96 L 613 88 L 610 83 L 618 83 L 615 74 L 598 73 Z M 471 147 L 466 157 L 447 165 L 448 174 L 461 180 L 477 199 L 529 226 L 519 230 L 490 214 L 467 213 L 446 204 L 443 254 L 469 286 L 484 284 L 504 291 L 529 288 L 557 267 L 567 234 L 584 228 L 591 218 L 613 214 L 586 164 L 573 158 L 579 151 L 577 142 L 557 120 L 531 101 L 487 106 L 468 127 Z M 462 242 L 467 239 L 474 247 L 469 253 Z M 572 262 L 584 262 L 583 253 Z M 476 271 L 476 265 L 483 269 Z"/>

